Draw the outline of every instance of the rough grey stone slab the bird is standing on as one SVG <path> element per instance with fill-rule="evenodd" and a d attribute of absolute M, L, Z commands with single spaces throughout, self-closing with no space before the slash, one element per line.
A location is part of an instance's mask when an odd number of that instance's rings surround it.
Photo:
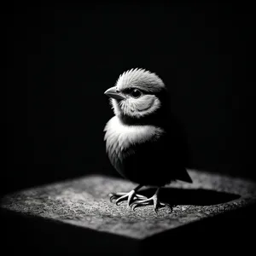
<path fill-rule="evenodd" d="M 172 213 L 161 208 L 156 214 L 152 206 L 138 207 L 133 211 L 125 202 L 116 206 L 109 201 L 108 194 L 130 191 L 137 184 L 102 175 L 6 195 L 1 207 L 7 212 L 36 218 L 39 222 L 50 220 L 70 224 L 84 230 L 84 234 L 86 230 L 94 230 L 99 234 L 118 235 L 119 239 L 143 241 L 160 234 L 172 235 L 189 224 L 194 224 L 191 225 L 194 229 L 204 219 L 236 212 L 256 202 L 256 185 L 252 181 L 195 170 L 189 170 L 189 174 L 194 183 L 172 183 L 160 192 L 162 201 L 177 204 Z M 154 188 L 143 189 L 141 194 L 153 195 Z M 102 241 L 97 242 L 100 246 Z"/>

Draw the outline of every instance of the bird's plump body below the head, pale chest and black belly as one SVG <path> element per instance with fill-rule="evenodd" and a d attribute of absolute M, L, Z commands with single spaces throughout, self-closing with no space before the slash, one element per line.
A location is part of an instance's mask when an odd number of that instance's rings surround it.
<path fill-rule="evenodd" d="M 190 182 L 185 151 L 171 128 L 127 125 L 114 116 L 106 125 L 109 160 L 123 177 L 135 183 L 164 186 L 176 179 Z"/>

